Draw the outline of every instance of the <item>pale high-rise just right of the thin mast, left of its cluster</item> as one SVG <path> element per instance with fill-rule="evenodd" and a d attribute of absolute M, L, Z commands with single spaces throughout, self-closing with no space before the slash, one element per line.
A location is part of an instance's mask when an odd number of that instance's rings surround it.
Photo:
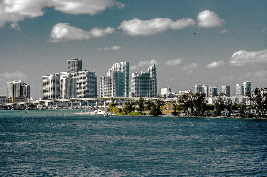
<path fill-rule="evenodd" d="M 43 76 L 43 99 L 55 100 L 60 98 L 59 77 L 55 74 Z"/>

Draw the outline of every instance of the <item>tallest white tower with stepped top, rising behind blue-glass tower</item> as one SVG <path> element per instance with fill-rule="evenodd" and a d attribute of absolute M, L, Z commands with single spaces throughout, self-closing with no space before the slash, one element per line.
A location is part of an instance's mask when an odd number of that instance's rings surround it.
<path fill-rule="evenodd" d="M 111 69 L 109 69 L 107 75 L 109 76 L 109 73 L 112 71 L 117 71 L 117 72 L 124 72 L 124 87 L 125 87 L 125 93 L 124 95 L 126 97 L 129 97 L 129 92 L 130 92 L 130 84 L 129 84 L 129 62 L 128 61 L 121 61 L 118 63 L 113 64 Z"/>

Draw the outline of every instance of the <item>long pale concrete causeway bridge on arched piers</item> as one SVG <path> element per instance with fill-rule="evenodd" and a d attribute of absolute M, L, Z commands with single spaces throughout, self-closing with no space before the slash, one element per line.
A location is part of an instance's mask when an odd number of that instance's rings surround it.
<path fill-rule="evenodd" d="M 156 98 L 146 98 L 144 97 L 145 100 L 151 100 L 151 101 L 155 101 Z M 14 109 L 15 106 L 21 106 L 21 108 L 23 108 L 23 106 L 26 106 L 26 108 L 28 109 L 29 105 L 35 105 L 35 108 L 37 109 L 38 105 L 43 105 L 45 103 L 47 103 L 47 105 L 50 105 L 50 109 L 52 109 L 52 104 L 55 103 L 55 109 L 59 108 L 59 103 L 64 103 L 64 108 L 67 109 L 67 103 L 71 103 L 71 108 L 74 108 L 74 102 L 80 102 L 80 108 L 82 108 L 82 102 L 86 101 L 87 102 L 87 108 L 89 108 L 89 103 L 92 101 L 96 102 L 96 107 L 98 108 L 98 101 L 103 101 L 104 102 L 104 108 L 107 107 L 107 101 L 111 100 L 112 103 L 115 102 L 115 100 L 119 100 L 122 105 L 123 102 L 126 100 L 138 100 L 139 97 L 134 97 L 134 98 L 128 98 L 128 97 L 107 97 L 107 98 L 69 98 L 69 99 L 58 99 L 58 100 L 36 100 L 36 101 L 27 101 L 27 102 L 18 102 L 18 103 L 4 103 L 4 104 L 0 104 L 0 108 L 3 106 L 7 106 L 8 109 Z M 174 101 L 177 102 L 177 98 L 165 98 L 164 101 Z M 41 107 L 41 108 L 42 108 Z"/>

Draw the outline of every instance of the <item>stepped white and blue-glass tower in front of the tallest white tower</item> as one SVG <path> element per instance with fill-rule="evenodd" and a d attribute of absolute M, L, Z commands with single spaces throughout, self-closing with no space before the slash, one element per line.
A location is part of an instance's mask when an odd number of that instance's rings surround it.
<path fill-rule="evenodd" d="M 109 72 L 100 76 L 100 97 L 125 97 L 124 72 Z"/>

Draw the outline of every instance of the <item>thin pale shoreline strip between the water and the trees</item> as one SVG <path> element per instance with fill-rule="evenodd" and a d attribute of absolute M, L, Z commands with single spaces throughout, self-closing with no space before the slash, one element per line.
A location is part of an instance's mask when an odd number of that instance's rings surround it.
<path fill-rule="evenodd" d="M 81 114 L 81 115 L 98 115 L 101 116 L 102 114 L 97 114 L 95 112 L 80 112 L 80 113 L 74 113 L 74 114 Z M 109 113 L 109 116 L 132 116 L 132 115 L 117 115 L 114 113 Z M 139 116 L 146 116 L 146 117 L 172 117 L 172 118 L 233 118 L 233 119 L 267 119 L 267 117 L 253 117 L 253 118 L 244 118 L 240 116 L 230 116 L 230 117 L 224 117 L 224 116 L 216 116 L 216 117 L 199 117 L 199 116 L 188 116 L 188 115 L 179 115 L 179 116 L 173 116 L 171 113 L 162 113 L 162 115 L 159 116 L 152 116 L 149 114 L 145 115 L 139 115 Z"/>

